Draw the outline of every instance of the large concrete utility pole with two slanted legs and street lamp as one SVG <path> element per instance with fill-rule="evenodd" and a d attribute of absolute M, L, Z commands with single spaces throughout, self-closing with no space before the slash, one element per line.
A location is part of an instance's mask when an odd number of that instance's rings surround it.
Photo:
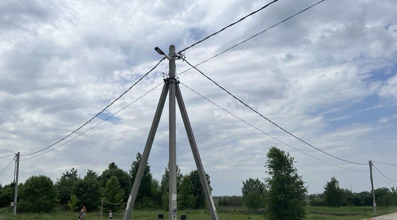
<path fill-rule="evenodd" d="M 175 78 L 175 46 L 171 45 L 169 49 L 169 54 L 166 55 L 164 52 L 156 47 L 154 48 L 159 54 L 164 55 L 164 59 L 169 60 L 170 65 L 170 75 L 167 79 L 164 80 L 164 87 L 160 96 L 160 100 L 157 105 L 156 113 L 154 114 L 154 119 L 152 122 L 152 126 L 150 127 L 150 132 L 148 139 L 146 140 L 145 149 L 143 150 L 141 162 L 139 163 L 139 168 L 137 174 L 134 179 L 134 184 L 131 189 L 131 193 L 129 195 L 127 205 L 125 207 L 123 220 L 129 220 L 131 214 L 133 214 L 133 206 L 135 203 L 135 199 L 137 197 L 139 185 L 141 184 L 143 172 L 146 167 L 146 163 L 148 161 L 148 157 L 150 154 L 150 149 L 152 148 L 154 136 L 157 131 L 158 123 L 160 121 L 161 113 L 164 108 L 164 103 L 167 98 L 167 94 L 169 92 L 169 103 L 170 103 L 170 136 L 169 136 L 169 188 L 168 188 L 168 219 L 176 220 L 177 219 L 177 189 L 176 189 L 176 122 L 175 122 L 175 98 L 178 101 L 179 110 L 181 111 L 183 124 L 185 124 L 185 130 L 187 133 L 187 137 L 189 138 L 190 147 L 192 149 L 193 158 L 195 160 L 198 175 L 200 176 L 200 181 L 202 188 L 204 190 L 205 198 L 207 201 L 208 208 L 210 210 L 212 220 L 218 220 L 218 214 L 216 213 L 214 201 L 212 200 L 210 187 L 208 186 L 208 182 L 206 179 L 206 175 L 204 172 L 204 168 L 201 162 L 200 154 L 198 153 L 197 143 L 195 137 L 193 136 L 193 130 L 190 125 L 189 118 L 187 117 L 187 111 L 185 108 L 185 103 L 183 102 L 181 90 L 179 89 L 178 81 Z"/>

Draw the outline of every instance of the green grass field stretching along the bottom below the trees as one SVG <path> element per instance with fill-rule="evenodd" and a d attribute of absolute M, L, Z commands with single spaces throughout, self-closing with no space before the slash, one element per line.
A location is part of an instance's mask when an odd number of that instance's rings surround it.
<path fill-rule="evenodd" d="M 397 207 L 378 207 L 378 214 L 384 215 L 397 212 Z M 372 207 L 306 207 L 307 220 L 360 220 L 372 217 Z M 134 212 L 133 219 L 154 220 L 158 214 L 164 214 L 167 219 L 167 212 L 162 210 L 138 210 Z M 182 214 L 187 215 L 188 220 L 210 220 L 207 210 L 179 210 L 178 218 Z M 120 220 L 123 213 L 114 212 L 114 220 Z M 220 220 L 263 220 L 264 216 L 257 213 L 249 213 L 243 208 L 219 208 L 218 216 Z M 0 209 L 1 220 L 78 220 L 78 217 L 70 212 L 60 211 L 49 214 L 17 214 L 14 218 L 11 208 Z M 108 219 L 104 213 L 103 219 Z M 85 220 L 100 220 L 100 212 L 88 212 Z"/>

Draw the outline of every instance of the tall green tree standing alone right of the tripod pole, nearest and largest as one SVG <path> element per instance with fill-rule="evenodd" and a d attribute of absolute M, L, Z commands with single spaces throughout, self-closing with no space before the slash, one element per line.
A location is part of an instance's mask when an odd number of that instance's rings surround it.
<path fill-rule="evenodd" d="M 307 187 L 294 167 L 294 158 L 284 151 L 271 147 L 267 153 L 265 168 L 268 178 L 265 179 L 268 219 L 301 220 L 306 216 L 304 197 Z"/>

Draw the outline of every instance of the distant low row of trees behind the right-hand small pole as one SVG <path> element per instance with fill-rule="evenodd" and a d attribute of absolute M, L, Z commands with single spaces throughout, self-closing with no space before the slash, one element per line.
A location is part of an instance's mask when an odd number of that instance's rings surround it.
<path fill-rule="evenodd" d="M 379 206 L 397 206 L 397 189 L 391 187 L 381 187 L 374 190 L 376 204 Z M 353 193 L 349 189 L 339 187 L 339 181 L 332 177 L 330 182 L 324 186 L 324 193 L 308 195 L 311 206 L 372 206 L 372 193 L 369 191 L 362 191 L 360 193 Z"/>

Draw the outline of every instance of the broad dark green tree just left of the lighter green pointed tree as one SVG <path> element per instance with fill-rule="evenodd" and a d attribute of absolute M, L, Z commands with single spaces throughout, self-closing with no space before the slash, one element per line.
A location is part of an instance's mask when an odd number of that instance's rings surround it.
<path fill-rule="evenodd" d="M 78 207 L 85 206 L 87 210 L 98 209 L 102 198 L 102 191 L 103 189 L 99 181 L 90 174 L 85 176 L 83 180 L 77 180 L 74 195 L 77 195 L 79 198 L 77 201 Z"/>

